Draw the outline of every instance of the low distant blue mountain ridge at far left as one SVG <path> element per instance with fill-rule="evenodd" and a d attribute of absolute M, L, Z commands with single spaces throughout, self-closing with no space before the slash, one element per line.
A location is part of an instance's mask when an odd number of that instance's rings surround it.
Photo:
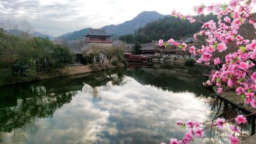
<path fill-rule="evenodd" d="M 19 36 L 19 35 L 27 35 L 29 37 L 48 37 L 49 40 L 52 40 L 54 39 L 55 37 L 53 36 L 49 36 L 49 35 L 44 35 L 44 34 L 41 34 L 39 32 L 34 32 L 34 33 L 27 33 L 27 32 L 24 32 L 24 31 L 20 31 L 20 30 L 7 30 L 6 33 L 8 34 L 13 34 L 15 36 Z"/>

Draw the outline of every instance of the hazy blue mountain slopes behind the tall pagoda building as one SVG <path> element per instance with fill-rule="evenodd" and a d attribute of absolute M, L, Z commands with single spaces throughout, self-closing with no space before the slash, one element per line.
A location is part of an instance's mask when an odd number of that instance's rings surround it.
<path fill-rule="evenodd" d="M 155 21 L 159 18 L 163 18 L 165 15 L 162 15 L 156 11 L 144 11 L 138 14 L 132 20 L 125 21 L 119 25 L 109 25 L 104 26 L 102 29 L 105 29 L 107 33 L 115 34 L 114 37 L 118 37 L 124 34 L 133 34 L 135 30 L 138 30 L 140 27 L 145 26 L 148 22 Z M 67 33 L 60 36 L 64 40 L 77 40 L 83 39 L 84 36 L 89 32 L 90 28 L 85 28 L 79 31 L 74 31 L 72 33 Z"/>

